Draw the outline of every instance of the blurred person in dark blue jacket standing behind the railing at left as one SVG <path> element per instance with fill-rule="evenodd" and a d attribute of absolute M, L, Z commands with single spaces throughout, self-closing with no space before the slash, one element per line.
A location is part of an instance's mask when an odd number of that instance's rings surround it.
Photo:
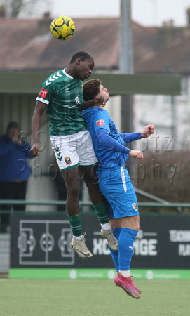
<path fill-rule="evenodd" d="M 29 152 L 30 145 L 19 137 L 19 125 L 10 121 L 6 133 L 0 138 L 0 199 L 25 199 L 27 180 L 31 173 L 27 158 L 34 158 Z M 1 201 L 0 201 L 1 205 Z M 10 212 L 25 211 L 25 205 L 1 205 L 1 232 L 10 225 Z"/>

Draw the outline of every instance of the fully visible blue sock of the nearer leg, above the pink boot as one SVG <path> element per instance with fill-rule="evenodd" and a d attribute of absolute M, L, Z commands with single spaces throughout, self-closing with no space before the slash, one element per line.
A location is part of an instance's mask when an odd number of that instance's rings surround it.
<path fill-rule="evenodd" d="M 130 270 L 130 261 L 133 255 L 133 244 L 137 236 L 137 230 L 121 228 L 118 238 L 118 269 Z"/>

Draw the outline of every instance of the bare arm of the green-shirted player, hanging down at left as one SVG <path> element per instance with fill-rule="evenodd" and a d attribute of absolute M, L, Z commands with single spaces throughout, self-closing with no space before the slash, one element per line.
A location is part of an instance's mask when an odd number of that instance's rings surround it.
<path fill-rule="evenodd" d="M 32 136 L 33 136 L 33 145 L 30 152 L 33 156 L 39 155 L 39 127 L 41 124 L 41 117 L 43 112 L 46 110 L 46 104 L 41 101 L 36 102 L 36 107 L 34 109 L 34 114 L 32 117 Z"/>

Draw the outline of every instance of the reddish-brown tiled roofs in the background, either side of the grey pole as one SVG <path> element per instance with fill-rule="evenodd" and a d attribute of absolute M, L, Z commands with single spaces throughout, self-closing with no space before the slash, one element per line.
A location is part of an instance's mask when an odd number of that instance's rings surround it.
<path fill-rule="evenodd" d="M 95 70 L 118 70 L 119 18 L 76 18 L 67 41 L 50 33 L 52 18 L 0 18 L 0 70 L 43 71 L 67 67 L 77 51 L 95 60 Z M 137 73 L 190 72 L 188 29 L 166 25 L 143 27 L 132 22 L 134 70 Z"/>

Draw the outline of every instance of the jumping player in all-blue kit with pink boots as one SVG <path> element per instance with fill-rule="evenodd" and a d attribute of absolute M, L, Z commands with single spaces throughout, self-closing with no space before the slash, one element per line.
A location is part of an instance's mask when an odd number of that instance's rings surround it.
<path fill-rule="evenodd" d="M 109 222 L 118 239 L 118 251 L 111 251 L 117 275 L 114 283 L 133 298 L 140 298 L 138 289 L 130 275 L 130 261 L 133 244 L 140 229 L 140 217 L 134 187 L 131 183 L 125 161 L 128 156 L 142 159 L 140 150 L 130 150 L 126 143 L 140 138 L 147 138 L 154 133 L 154 125 L 144 126 L 140 133 L 118 133 L 114 121 L 104 106 L 109 100 L 109 93 L 99 79 L 86 81 L 83 85 L 83 100 L 104 98 L 104 104 L 90 107 L 82 112 L 90 135 L 93 139 L 95 154 L 99 161 L 97 173 L 99 187 L 109 204 Z"/>

